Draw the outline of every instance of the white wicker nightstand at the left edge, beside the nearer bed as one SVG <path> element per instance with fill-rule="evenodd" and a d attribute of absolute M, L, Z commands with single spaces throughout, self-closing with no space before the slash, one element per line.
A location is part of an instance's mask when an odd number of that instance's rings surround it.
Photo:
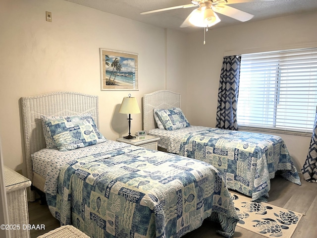
<path fill-rule="evenodd" d="M 9 214 L 11 238 L 29 238 L 28 200 L 26 188 L 31 186 L 31 180 L 4 166 L 6 200 Z M 23 229 L 24 228 L 24 229 Z"/>

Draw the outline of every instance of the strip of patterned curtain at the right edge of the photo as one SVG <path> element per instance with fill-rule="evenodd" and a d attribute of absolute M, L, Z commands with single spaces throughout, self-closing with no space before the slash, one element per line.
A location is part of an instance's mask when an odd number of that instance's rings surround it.
<path fill-rule="evenodd" d="M 313 136 L 302 172 L 304 179 L 317 182 L 317 108 Z"/>

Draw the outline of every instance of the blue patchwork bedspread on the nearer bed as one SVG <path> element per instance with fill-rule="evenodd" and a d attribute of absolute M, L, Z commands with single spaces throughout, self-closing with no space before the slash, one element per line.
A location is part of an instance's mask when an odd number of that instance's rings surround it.
<path fill-rule="evenodd" d="M 99 238 L 178 238 L 206 218 L 231 237 L 238 221 L 213 166 L 135 146 L 68 162 L 47 201 L 61 225 Z"/>

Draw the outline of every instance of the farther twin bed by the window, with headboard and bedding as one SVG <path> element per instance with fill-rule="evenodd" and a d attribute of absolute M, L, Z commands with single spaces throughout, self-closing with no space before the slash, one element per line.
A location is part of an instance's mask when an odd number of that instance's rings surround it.
<path fill-rule="evenodd" d="M 144 130 L 160 137 L 160 150 L 213 165 L 229 189 L 251 196 L 253 200 L 267 200 L 270 179 L 275 174 L 301 184 L 287 147 L 279 136 L 193 126 L 189 123 L 171 130 L 159 125 L 161 121 L 154 112 L 180 109 L 180 98 L 180 94 L 169 90 L 159 90 L 143 97 Z M 173 116 L 165 114 L 165 117 Z"/>

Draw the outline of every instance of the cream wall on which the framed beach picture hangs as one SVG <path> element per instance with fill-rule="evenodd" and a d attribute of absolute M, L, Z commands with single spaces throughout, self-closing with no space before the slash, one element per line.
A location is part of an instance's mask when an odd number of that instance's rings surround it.
<path fill-rule="evenodd" d="M 52 23 L 45 20 L 46 11 L 52 12 Z M 101 132 L 113 140 L 126 135 L 127 116 L 118 113 L 123 97 L 131 93 L 142 108 L 145 93 L 166 89 L 166 71 L 173 76 L 181 69 L 166 64 L 166 42 L 177 41 L 180 36 L 64 0 L 1 0 L 0 135 L 4 164 L 23 169 L 26 175 L 19 102 L 25 96 L 52 91 L 98 95 Z M 100 90 L 99 48 L 138 54 L 139 91 Z M 142 129 L 142 114 L 132 118 L 134 133 Z"/>

